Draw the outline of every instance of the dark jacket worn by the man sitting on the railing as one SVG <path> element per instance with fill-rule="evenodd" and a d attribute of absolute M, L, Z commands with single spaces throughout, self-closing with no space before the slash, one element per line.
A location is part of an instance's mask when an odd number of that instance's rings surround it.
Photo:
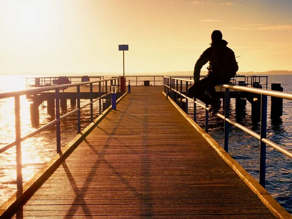
<path fill-rule="evenodd" d="M 219 75 L 219 71 L 218 71 L 218 69 L 216 69 L 216 65 L 218 63 L 217 59 L 219 57 L 219 54 L 216 54 L 216 53 L 218 53 L 218 51 L 220 51 L 221 47 L 228 48 L 227 44 L 228 44 L 228 42 L 224 39 L 217 41 L 217 42 L 212 42 L 211 46 L 202 53 L 202 55 L 197 60 L 197 62 L 195 64 L 195 68 L 194 68 L 194 81 L 195 81 L 195 83 L 200 80 L 201 68 L 208 61 L 209 61 L 209 66 L 207 67 L 208 76 L 209 77 L 210 76 L 224 77 L 224 75 Z"/>

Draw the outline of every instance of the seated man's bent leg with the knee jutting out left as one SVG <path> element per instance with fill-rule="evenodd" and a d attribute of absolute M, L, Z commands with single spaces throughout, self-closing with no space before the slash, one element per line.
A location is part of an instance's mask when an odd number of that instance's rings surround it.
<path fill-rule="evenodd" d="M 209 77 L 204 77 L 188 89 L 188 93 L 201 100 L 205 104 L 213 104 L 213 98 L 206 95 L 204 91 L 210 91 L 214 88 L 213 81 Z M 214 88 L 215 90 L 215 88 Z"/>

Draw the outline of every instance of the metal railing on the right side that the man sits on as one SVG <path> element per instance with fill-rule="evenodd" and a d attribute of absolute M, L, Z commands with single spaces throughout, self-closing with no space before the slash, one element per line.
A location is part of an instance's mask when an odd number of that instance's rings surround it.
<path fill-rule="evenodd" d="M 194 121 L 196 121 L 196 106 L 200 106 L 205 109 L 205 131 L 208 132 L 208 115 L 209 108 L 204 104 L 196 101 L 195 98 L 188 97 L 187 89 L 193 83 L 193 80 L 176 78 L 176 77 L 164 77 L 164 91 L 171 95 L 171 98 L 175 100 L 177 104 L 185 104 L 185 109 L 188 108 L 188 101 L 194 103 Z M 225 103 L 224 103 L 224 115 L 217 113 L 216 115 L 224 120 L 224 150 L 228 152 L 228 138 L 229 138 L 229 124 L 234 125 L 237 128 L 240 128 L 244 132 L 250 134 L 259 140 L 260 143 L 260 166 L 259 166 L 259 183 L 265 187 L 266 183 L 266 145 L 273 147 L 277 151 L 285 154 L 286 156 L 292 158 L 292 152 L 280 146 L 267 138 L 267 101 L 268 96 L 277 97 L 282 99 L 292 100 L 292 93 L 281 92 L 281 91 L 268 91 L 258 88 L 249 88 L 244 86 L 235 86 L 235 85 L 219 85 L 219 87 L 225 89 Z M 183 88 L 185 90 L 183 91 Z M 242 126 L 241 124 L 231 120 L 229 118 L 229 104 L 230 96 L 229 89 L 234 89 L 237 91 L 246 91 L 255 94 L 261 95 L 261 112 L 260 112 L 260 133 L 256 133 L 249 128 Z M 180 101 L 179 101 L 180 98 Z M 185 103 L 183 103 L 182 98 L 185 98 Z"/>

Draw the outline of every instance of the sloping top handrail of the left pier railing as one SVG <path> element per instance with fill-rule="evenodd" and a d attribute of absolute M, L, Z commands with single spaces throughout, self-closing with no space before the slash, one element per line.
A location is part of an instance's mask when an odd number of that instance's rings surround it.
<path fill-rule="evenodd" d="M 114 79 L 119 79 L 119 78 L 71 83 L 71 84 L 64 84 L 64 85 L 51 85 L 51 86 L 42 87 L 42 88 L 32 88 L 32 89 L 27 89 L 27 90 L 22 90 L 22 91 L 5 92 L 5 93 L 0 93 L 0 99 L 14 97 L 14 96 L 21 96 L 21 95 L 30 95 L 30 94 L 35 94 L 35 93 L 40 93 L 40 92 L 45 92 L 45 91 L 52 91 L 56 89 L 62 90 L 62 89 L 70 88 L 70 87 L 76 87 L 78 85 L 81 86 L 81 85 L 93 84 L 93 83 L 98 83 L 98 82 L 110 81 Z"/>

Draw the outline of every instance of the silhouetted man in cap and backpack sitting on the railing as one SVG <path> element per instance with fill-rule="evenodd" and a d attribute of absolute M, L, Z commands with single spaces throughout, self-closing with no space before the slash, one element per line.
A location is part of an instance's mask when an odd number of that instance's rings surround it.
<path fill-rule="evenodd" d="M 221 101 L 216 99 L 215 86 L 228 84 L 230 79 L 238 71 L 234 52 L 227 47 L 228 42 L 222 39 L 219 30 L 213 31 L 211 35 L 211 46 L 206 49 L 195 64 L 194 84 L 188 89 L 188 93 L 201 100 L 209 107 L 212 115 L 216 114 L 221 106 Z M 209 61 L 208 74 L 200 80 L 201 68 Z M 209 91 L 206 95 L 204 91 Z"/>

